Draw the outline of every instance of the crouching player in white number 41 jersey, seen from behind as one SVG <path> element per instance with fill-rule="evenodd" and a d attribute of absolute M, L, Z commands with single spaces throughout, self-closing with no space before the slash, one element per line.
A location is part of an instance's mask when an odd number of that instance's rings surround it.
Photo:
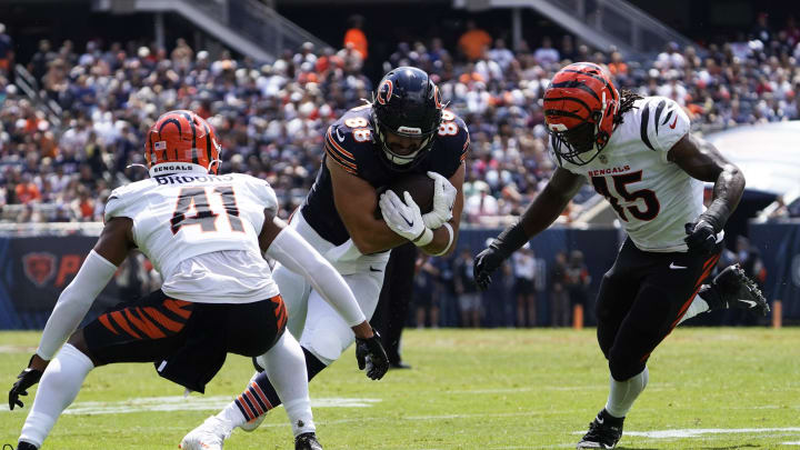
<path fill-rule="evenodd" d="M 303 353 L 284 332 L 286 306 L 262 252 L 314 283 L 364 342 L 359 360 L 388 367 L 352 292 L 319 252 L 276 218 L 278 200 L 266 181 L 217 173 L 220 147 L 203 119 L 191 111 L 168 112 L 150 128 L 144 147 L 151 178 L 109 197 L 97 244 L 59 297 L 39 348 L 9 392 L 9 407 L 22 407 L 19 396 L 41 378 L 18 449 L 41 447 L 98 366 L 153 362 L 161 377 L 203 392 L 228 352 L 257 358 L 268 368 L 291 420 L 296 448 L 321 449 Z M 76 331 L 133 249 L 161 272 L 162 288 Z M 248 402 L 254 410 L 269 408 L 263 396 Z M 181 443 L 184 449 L 198 446 Z M 220 440 L 203 448 L 221 446 Z"/>

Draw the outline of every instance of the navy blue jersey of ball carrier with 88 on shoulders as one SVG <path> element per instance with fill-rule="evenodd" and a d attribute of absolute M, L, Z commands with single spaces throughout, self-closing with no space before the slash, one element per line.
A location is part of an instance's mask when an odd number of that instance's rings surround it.
<path fill-rule="evenodd" d="M 456 173 L 469 150 L 469 132 L 463 120 L 444 110 L 439 132 L 433 137 L 433 147 L 428 156 L 408 172 L 397 172 L 381 161 L 380 143 L 376 140 L 372 107 L 364 104 L 346 112 L 330 128 L 324 138 L 326 156 L 317 173 L 311 191 L 302 204 L 302 214 L 323 239 L 337 246 L 350 239 L 333 203 L 333 188 L 328 158 L 347 172 L 380 189 L 390 186 L 408 173 L 437 172 L 446 178 Z"/>

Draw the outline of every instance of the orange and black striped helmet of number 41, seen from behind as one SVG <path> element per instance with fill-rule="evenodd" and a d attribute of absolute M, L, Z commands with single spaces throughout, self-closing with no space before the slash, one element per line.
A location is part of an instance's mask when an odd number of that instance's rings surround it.
<path fill-rule="evenodd" d="M 144 158 L 150 174 L 153 167 L 167 162 L 196 164 L 209 173 L 217 173 L 220 144 L 213 128 L 200 116 L 188 110 L 162 114 L 148 131 Z M 198 168 L 194 168 L 198 169 Z"/>

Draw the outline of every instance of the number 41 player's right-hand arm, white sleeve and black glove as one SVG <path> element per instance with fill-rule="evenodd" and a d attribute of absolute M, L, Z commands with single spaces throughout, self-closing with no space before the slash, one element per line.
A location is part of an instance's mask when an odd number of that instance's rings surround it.
<path fill-rule="evenodd" d="M 389 359 L 380 337 L 370 327 L 356 297 L 333 266 L 269 209 L 264 210 L 259 246 L 267 256 L 302 274 L 333 307 L 356 334 L 359 369 L 367 369 L 367 376 L 373 380 L 382 378 L 389 369 Z"/>

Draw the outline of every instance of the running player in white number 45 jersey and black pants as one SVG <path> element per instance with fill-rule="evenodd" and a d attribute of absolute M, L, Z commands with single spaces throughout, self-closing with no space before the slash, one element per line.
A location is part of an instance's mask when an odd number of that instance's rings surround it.
<path fill-rule="evenodd" d="M 597 299 L 611 392 L 578 448 L 611 449 L 647 384 L 650 352 L 678 323 L 709 309 L 769 310 L 738 267 L 703 284 L 719 260 L 722 227 L 739 203 L 744 177 L 689 132 L 689 118 L 674 101 L 620 94 L 592 63 L 567 66 L 553 77 L 544 118 L 559 167 L 520 221 L 476 258 L 476 279 L 486 288 L 490 273 L 548 228 L 584 182 L 609 201 L 628 232 Z M 704 181 L 714 183 L 708 209 Z"/>

